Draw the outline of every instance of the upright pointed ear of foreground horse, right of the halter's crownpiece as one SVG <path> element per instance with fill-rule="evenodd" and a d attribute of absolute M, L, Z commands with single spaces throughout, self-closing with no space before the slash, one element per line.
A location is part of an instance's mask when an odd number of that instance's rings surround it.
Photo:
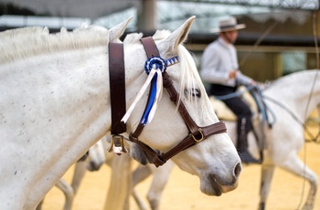
<path fill-rule="evenodd" d="M 177 47 L 187 39 L 187 34 L 189 33 L 190 27 L 192 26 L 195 18 L 196 16 L 191 16 L 182 26 L 178 27 L 174 32 L 171 33 L 169 37 L 165 38 L 165 41 L 162 43 L 165 43 L 166 46 L 171 47 L 165 47 L 167 50 L 169 50 L 168 53 L 174 52 L 176 54 Z"/>

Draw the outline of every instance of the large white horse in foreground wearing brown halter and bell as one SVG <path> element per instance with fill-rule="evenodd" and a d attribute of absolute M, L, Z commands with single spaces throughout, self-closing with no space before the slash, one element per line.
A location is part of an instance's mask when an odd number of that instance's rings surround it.
<path fill-rule="evenodd" d="M 227 133 L 198 138 L 219 120 L 192 57 L 181 45 L 194 18 L 154 39 L 161 57 L 179 57 L 177 64 L 166 68 L 180 93 L 176 101 L 185 105 L 198 126 L 210 125 L 191 135 L 201 142 L 172 160 L 199 177 L 204 194 L 220 195 L 237 187 L 241 164 Z M 1 209 L 35 209 L 69 167 L 111 131 L 108 44 L 119 34 L 95 27 L 54 35 L 42 28 L 0 34 Z M 147 57 L 140 42 L 125 43 L 123 48 L 130 107 L 148 77 L 143 70 Z M 128 134 L 140 123 L 147 98 L 142 95 L 126 121 Z M 164 91 L 139 140 L 156 151 L 169 151 L 189 133 L 183 117 Z M 136 148 L 131 154 L 145 162 L 145 153 Z"/>

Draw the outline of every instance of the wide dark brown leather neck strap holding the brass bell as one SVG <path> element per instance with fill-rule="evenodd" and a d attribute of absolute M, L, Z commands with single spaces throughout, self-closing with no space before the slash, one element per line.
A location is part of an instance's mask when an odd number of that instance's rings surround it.
<path fill-rule="evenodd" d="M 112 134 L 126 131 L 122 120 L 125 114 L 125 73 L 122 43 L 109 43 L 109 79 L 112 105 Z"/>

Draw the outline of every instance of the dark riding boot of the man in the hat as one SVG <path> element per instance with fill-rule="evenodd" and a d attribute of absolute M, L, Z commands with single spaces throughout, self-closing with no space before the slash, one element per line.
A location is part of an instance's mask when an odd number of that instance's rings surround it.
<path fill-rule="evenodd" d="M 240 156 L 240 159 L 243 163 L 260 163 L 260 161 L 253 158 L 248 152 L 248 125 L 247 125 L 247 119 L 241 118 L 239 123 L 239 129 L 238 129 L 238 141 L 237 141 L 237 150 Z"/>

